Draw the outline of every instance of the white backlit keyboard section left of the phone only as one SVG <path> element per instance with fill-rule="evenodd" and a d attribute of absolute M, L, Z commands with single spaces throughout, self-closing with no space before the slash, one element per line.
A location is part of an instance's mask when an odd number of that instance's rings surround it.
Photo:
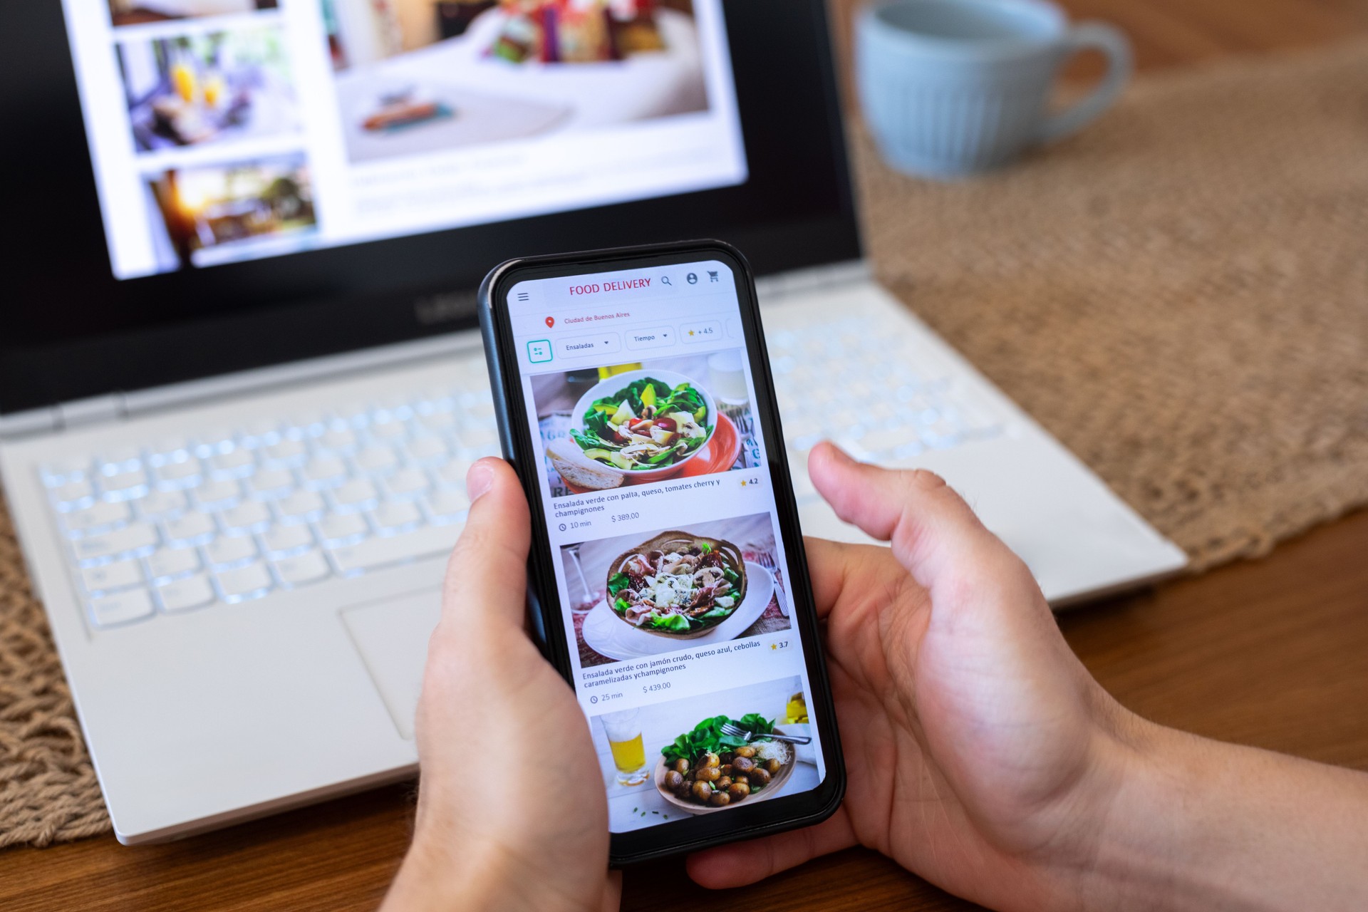
<path fill-rule="evenodd" d="M 466 469 L 498 453 L 480 384 L 96 454 L 42 481 L 90 619 L 111 626 L 445 554 Z"/>

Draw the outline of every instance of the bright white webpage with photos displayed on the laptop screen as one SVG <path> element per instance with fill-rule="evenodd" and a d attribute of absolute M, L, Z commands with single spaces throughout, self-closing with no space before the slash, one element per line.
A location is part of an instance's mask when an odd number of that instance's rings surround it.
<path fill-rule="evenodd" d="M 747 178 L 721 0 L 63 0 L 130 279 Z"/>

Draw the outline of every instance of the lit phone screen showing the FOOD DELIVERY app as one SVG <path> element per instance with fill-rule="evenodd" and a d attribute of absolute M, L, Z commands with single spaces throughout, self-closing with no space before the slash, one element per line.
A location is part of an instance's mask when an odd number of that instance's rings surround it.
<path fill-rule="evenodd" d="M 508 293 L 561 621 L 624 833 L 815 788 L 736 276 L 724 263 Z"/>

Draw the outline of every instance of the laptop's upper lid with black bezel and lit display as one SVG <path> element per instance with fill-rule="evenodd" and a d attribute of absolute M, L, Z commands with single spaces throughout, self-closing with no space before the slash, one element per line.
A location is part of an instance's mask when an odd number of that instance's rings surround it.
<path fill-rule="evenodd" d="M 824 0 L 19 3 L 0 123 L 0 416 L 471 328 L 510 257 L 860 256 Z"/>

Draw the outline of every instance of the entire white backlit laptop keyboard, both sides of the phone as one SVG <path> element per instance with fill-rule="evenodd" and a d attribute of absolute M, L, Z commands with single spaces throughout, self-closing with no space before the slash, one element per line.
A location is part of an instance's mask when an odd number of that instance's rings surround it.
<path fill-rule="evenodd" d="M 766 334 L 799 500 L 807 453 L 836 440 L 897 462 L 992 438 L 1001 421 L 874 314 Z M 793 317 L 798 317 L 795 320 Z M 465 521 L 465 472 L 497 455 L 483 360 L 468 388 L 197 433 L 42 468 L 96 626 L 234 604 L 447 552 Z M 741 428 L 752 433 L 754 428 Z"/>

